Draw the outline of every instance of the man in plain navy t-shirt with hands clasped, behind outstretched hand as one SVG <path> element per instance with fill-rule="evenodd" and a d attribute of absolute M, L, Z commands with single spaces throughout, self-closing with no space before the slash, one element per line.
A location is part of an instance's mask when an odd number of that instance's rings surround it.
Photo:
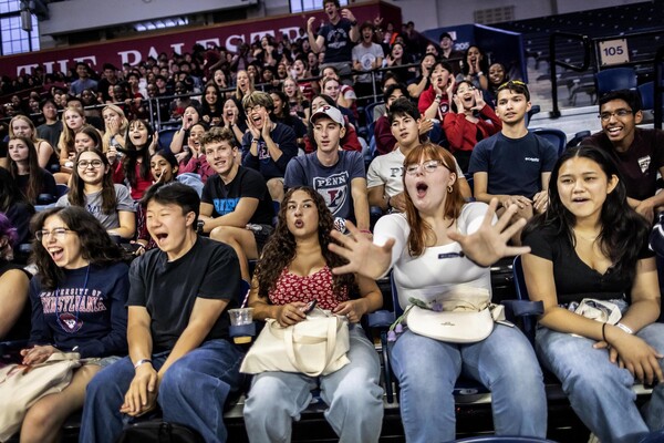
<path fill-rule="evenodd" d="M 498 215 L 517 205 L 515 217 L 530 219 L 547 209 L 558 150 L 526 127 L 526 113 L 531 106 L 526 83 L 509 81 L 498 87 L 497 94 L 496 114 L 502 130 L 475 145 L 470 156 L 468 172 L 473 174 L 475 198 L 486 204 L 498 198 Z M 520 231 L 512 241 L 520 244 Z"/>

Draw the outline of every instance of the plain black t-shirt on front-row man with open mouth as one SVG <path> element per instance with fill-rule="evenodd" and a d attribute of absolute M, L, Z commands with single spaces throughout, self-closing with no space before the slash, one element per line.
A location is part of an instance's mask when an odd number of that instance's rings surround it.
<path fill-rule="evenodd" d="M 160 249 L 141 256 L 129 269 L 127 306 L 143 306 L 151 316 L 153 352 L 172 350 L 189 323 L 197 297 L 228 300 L 237 307 L 240 264 L 226 244 L 198 237 L 175 261 Z M 229 318 L 224 310 L 205 341 L 228 339 Z"/>

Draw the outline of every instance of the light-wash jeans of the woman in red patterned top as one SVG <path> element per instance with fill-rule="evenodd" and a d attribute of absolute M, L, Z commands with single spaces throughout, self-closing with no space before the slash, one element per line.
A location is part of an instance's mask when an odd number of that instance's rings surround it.
<path fill-rule="evenodd" d="M 350 326 L 351 362 L 318 378 L 321 396 L 330 406 L 325 419 L 340 442 L 377 442 L 383 424 L 381 365 L 360 324 Z M 262 372 L 253 378 L 245 404 L 245 424 L 251 443 L 290 442 L 292 421 L 311 402 L 317 379 L 292 372 Z"/>

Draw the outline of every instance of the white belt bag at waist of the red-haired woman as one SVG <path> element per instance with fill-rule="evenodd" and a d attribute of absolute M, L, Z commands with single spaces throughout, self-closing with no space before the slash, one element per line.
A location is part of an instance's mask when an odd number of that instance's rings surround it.
<path fill-rule="evenodd" d="M 484 288 L 461 285 L 439 301 L 425 303 L 411 299 L 405 321 L 413 332 L 452 343 L 475 343 L 489 337 L 494 321 L 505 320 L 504 307 L 492 305 Z"/>

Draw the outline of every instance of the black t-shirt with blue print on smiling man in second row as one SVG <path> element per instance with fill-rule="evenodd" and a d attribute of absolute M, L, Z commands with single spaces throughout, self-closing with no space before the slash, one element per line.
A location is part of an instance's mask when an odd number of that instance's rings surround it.
<path fill-rule="evenodd" d="M 229 184 L 225 184 L 219 174 L 209 177 L 203 188 L 200 202 L 212 205 L 212 218 L 217 218 L 232 213 L 242 197 L 258 199 L 258 207 L 249 223 L 272 224 L 274 206 L 268 185 L 258 171 L 248 167 L 239 166 L 238 173 Z"/>

